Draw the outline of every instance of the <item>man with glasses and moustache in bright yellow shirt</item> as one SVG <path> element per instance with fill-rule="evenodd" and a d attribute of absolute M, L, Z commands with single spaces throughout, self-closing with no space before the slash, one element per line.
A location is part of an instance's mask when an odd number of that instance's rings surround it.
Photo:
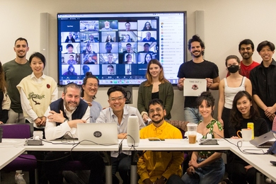
<path fill-rule="evenodd" d="M 140 138 L 182 139 L 180 130 L 166 122 L 165 116 L 162 100 L 155 98 L 149 101 L 149 118 L 152 123 L 140 130 Z M 183 183 L 180 179 L 183 160 L 183 151 L 146 151 L 137 163 L 140 176 L 138 183 Z"/>

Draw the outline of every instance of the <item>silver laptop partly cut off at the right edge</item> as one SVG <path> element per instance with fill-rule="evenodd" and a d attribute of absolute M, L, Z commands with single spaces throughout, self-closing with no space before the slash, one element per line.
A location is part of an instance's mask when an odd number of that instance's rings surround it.
<path fill-rule="evenodd" d="M 272 141 L 274 139 L 274 141 Z M 275 142 L 275 137 L 273 132 L 268 132 L 265 134 L 256 137 L 255 139 L 251 140 L 250 143 L 258 148 L 270 148 L 272 144 Z"/>

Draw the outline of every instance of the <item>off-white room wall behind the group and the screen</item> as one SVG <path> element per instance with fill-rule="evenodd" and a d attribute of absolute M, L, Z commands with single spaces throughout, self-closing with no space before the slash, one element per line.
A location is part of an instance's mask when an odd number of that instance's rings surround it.
<path fill-rule="evenodd" d="M 50 56 L 47 58 L 49 75 L 57 80 L 57 13 L 67 12 L 122 12 L 122 11 L 187 11 L 188 39 L 195 34 L 195 11 L 205 11 L 204 41 L 205 59 L 219 67 L 219 76 L 224 78 L 224 59 L 229 54 L 238 54 L 238 43 L 250 38 L 257 47 L 263 40 L 276 44 L 275 0 L 0 0 L 1 44 L 0 60 L 8 62 L 15 57 L 14 41 L 26 38 L 30 51 L 40 51 L 40 13 L 50 13 Z M 189 55 L 189 58 L 190 55 Z M 253 59 L 260 62 L 257 52 Z M 100 88 L 96 100 L 108 106 L 106 91 Z M 137 87 L 133 88 L 133 106 L 137 104 Z M 183 93 L 175 89 L 172 110 L 174 120 L 183 119 Z M 61 94 L 62 88 L 59 88 Z M 218 92 L 212 91 L 216 99 Z"/>

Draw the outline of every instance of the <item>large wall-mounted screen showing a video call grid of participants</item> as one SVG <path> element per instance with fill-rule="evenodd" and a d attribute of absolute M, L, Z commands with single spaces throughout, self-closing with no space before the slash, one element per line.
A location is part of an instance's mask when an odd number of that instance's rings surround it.
<path fill-rule="evenodd" d="M 58 13 L 59 85 L 81 85 L 91 71 L 100 85 L 138 86 L 151 59 L 177 84 L 186 30 L 185 12 Z"/>

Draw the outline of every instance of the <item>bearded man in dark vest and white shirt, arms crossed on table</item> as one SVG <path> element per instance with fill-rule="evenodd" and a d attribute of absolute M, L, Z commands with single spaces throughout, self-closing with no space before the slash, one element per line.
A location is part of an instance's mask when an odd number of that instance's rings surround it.
<path fill-rule="evenodd" d="M 64 87 L 62 98 L 52 102 L 47 109 L 45 137 L 54 140 L 60 137 L 78 138 L 76 127 L 78 123 L 89 123 L 90 117 L 88 104 L 81 100 L 81 88 L 74 83 Z M 70 156 L 71 154 L 71 156 Z M 62 159 L 61 159 L 62 158 Z M 45 156 L 45 168 L 47 180 L 51 183 L 62 183 L 62 168 L 64 164 L 73 159 L 83 161 L 90 168 L 88 183 L 102 183 L 104 162 L 96 151 L 52 151 Z"/>

